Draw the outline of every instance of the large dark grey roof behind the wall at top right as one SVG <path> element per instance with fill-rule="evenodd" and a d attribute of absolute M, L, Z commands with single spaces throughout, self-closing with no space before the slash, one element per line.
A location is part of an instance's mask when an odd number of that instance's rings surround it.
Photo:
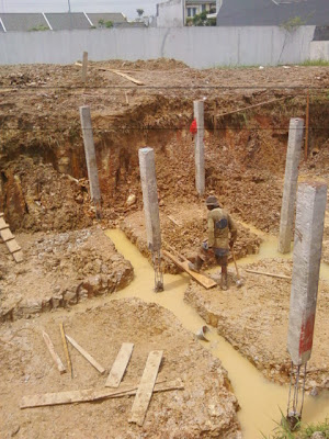
<path fill-rule="evenodd" d="M 281 25 L 300 18 L 305 24 L 329 24 L 328 0 L 224 0 L 218 26 Z"/>

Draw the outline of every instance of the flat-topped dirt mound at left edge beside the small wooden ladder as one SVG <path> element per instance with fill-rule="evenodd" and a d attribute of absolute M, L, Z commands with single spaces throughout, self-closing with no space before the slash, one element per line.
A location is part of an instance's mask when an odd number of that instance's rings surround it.
<path fill-rule="evenodd" d="M 24 261 L 0 252 L 0 319 L 13 320 L 68 307 L 126 286 L 131 262 L 100 227 L 61 234 L 20 234 Z"/>

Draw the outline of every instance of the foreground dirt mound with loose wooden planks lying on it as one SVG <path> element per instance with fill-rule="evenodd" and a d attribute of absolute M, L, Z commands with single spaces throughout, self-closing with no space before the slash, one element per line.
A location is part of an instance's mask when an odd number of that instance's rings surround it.
<path fill-rule="evenodd" d="M 155 393 L 143 427 L 128 423 L 133 405 L 128 396 L 20 410 L 24 395 L 105 389 L 106 375 L 101 375 L 71 346 L 75 379 L 71 380 L 69 373 L 59 374 L 43 341 L 42 330 L 49 335 L 64 359 L 61 322 L 66 333 L 107 371 L 122 342 L 134 344 L 123 384 L 138 385 L 148 353 L 162 350 L 158 380 L 181 379 L 184 389 Z M 5 401 L 0 406 L 3 438 L 14 435 L 45 439 L 241 438 L 236 416 L 238 403 L 220 361 L 159 305 L 122 300 L 81 309 L 75 315 L 55 313 L 31 322 L 15 322 L 2 330 L 0 356 L 0 393 Z"/>

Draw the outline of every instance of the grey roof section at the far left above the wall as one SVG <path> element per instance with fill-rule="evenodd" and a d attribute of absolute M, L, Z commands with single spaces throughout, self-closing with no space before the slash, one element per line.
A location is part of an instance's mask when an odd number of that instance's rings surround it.
<path fill-rule="evenodd" d="M 49 29 L 42 13 L 1 13 L 0 19 L 5 32 L 26 32 L 41 26 Z"/>

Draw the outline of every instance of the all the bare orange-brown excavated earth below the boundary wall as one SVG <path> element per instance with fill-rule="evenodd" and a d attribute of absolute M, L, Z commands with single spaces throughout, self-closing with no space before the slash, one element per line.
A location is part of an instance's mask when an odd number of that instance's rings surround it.
<path fill-rule="evenodd" d="M 174 248 L 185 258 L 197 251 L 206 238 L 206 210 L 195 191 L 189 126 L 193 101 L 203 99 L 207 194 L 216 194 L 237 222 L 237 258 L 258 254 L 262 241 L 279 230 L 288 123 L 305 119 L 308 88 L 309 150 L 299 179 L 329 181 L 328 87 L 326 67 L 195 70 L 169 59 L 113 60 L 90 63 L 87 85 L 76 65 L 0 67 L 0 212 L 24 256 L 16 263 L 0 243 L 3 438 L 102 438 L 110 435 L 109 419 L 111 437 L 122 439 L 241 437 L 239 403 L 220 361 L 163 307 L 137 299 L 110 301 L 111 293 L 132 282 L 134 268 L 104 230 L 122 228 L 150 260 L 138 168 L 138 148 L 150 146 L 163 249 Z M 90 201 L 81 105 L 91 110 L 101 219 Z M 328 215 L 329 210 L 325 264 Z M 206 268 L 213 266 L 211 261 Z M 163 268 L 179 273 L 170 260 L 163 260 Z M 287 383 L 292 261 L 259 258 L 241 264 L 240 274 L 243 285 L 238 289 L 230 267 L 228 291 L 205 290 L 191 280 L 184 300 L 266 379 Z M 328 295 L 324 278 L 307 391 L 329 386 Z M 75 349 L 73 379 L 59 373 L 43 333 L 64 360 L 61 323 L 105 374 Z M 143 426 L 128 423 L 134 394 L 21 408 L 24 397 L 36 394 L 89 390 L 90 397 L 104 391 L 123 342 L 134 344 L 134 350 L 120 386 L 138 386 L 151 351 L 163 352 L 156 386 L 179 383 L 154 393 Z"/>

